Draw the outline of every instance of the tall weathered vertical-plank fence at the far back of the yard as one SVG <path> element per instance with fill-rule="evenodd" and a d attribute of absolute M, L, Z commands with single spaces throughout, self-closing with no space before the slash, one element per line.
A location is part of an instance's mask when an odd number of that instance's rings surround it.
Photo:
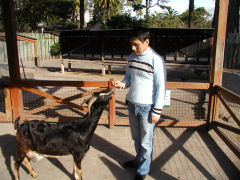
<path fill-rule="evenodd" d="M 50 33 L 19 33 L 21 36 L 37 40 L 37 59 L 54 59 L 51 55 L 51 46 L 59 41 L 59 37 Z M 228 69 L 240 69 L 240 38 L 228 37 L 225 45 L 224 67 Z M 126 43 L 127 44 L 127 43 Z M 19 57 L 24 62 L 34 65 L 34 45 L 31 42 L 18 41 Z M 6 41 L 0 37 L 0 64 L 7 64 Z M 176 54 L 173 55 L 174 57 Z M 178 56 L 178 55 L 177 55 Z M 187 57 L 187 56 L 186 56 Z M 186 58 L 185 57 L 185 58 Z M 164 56 L 168 60 L 167 56 Z M 176 58 L 175 58 L 176 59 Z M 209 59 L 208 59 L 209 61 Z"/>

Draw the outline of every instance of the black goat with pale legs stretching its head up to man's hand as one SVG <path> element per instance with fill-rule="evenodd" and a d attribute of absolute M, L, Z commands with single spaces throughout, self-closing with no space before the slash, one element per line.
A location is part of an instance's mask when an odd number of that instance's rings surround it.
<path fill-rule="evenodd" d="M 107 107 L 113 90 L 108 88 L 93 93 L 88 102 L 88 114 L 71 122 L 49 123 L 38 120 L 16 121 L 17 158 L 15 162 L 15 180 L 19 178 L 19 167 L 24 162 L 32 177 L 37 177 L 30 161 L 41 156 L 73 156 L 73 176 L 82 179 L 81 161 L 90 147 L 91 137 L 98 120 Z"/>

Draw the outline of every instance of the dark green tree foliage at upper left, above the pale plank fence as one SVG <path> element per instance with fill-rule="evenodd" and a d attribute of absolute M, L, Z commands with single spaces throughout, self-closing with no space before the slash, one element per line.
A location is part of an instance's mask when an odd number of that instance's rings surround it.
<path fill-rule="evenodd" d="M 48 30 L 71 26 L 73 0 L 23 0 L 16 3 L 17 31 L 35 31 L 40 22 Z"/>

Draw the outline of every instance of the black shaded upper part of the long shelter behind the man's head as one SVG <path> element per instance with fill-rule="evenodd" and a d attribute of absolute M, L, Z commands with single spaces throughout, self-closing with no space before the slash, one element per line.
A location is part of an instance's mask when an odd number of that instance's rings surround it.
<path fill-rule="evenodd" d="M 150 46 L 169 63 L 208 65 L 213 29 L 149 28 Z M 126 60 L 131 29 L 60 32 L 63 58 Z"/>

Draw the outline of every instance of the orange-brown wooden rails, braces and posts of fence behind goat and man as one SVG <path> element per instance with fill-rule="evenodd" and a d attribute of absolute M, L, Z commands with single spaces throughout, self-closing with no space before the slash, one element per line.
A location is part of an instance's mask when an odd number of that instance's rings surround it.
<path fill-rule="evenodd" d="M 14 84 L 10 83 L 10 82 L 0 82 L 0 86 L 5 87 L 5 108 L 6 108 L 6 116 L 5 116 L 5 120 L 10 122 L 11 121 L 11 114 L 12 114 L 12 110 L 15 111 L 17 109 L 17 107 L 15 107 L 13 104 L 11 104 L 11 98 L 13 98 L 13 96 L 11 96 L 11 92 L 10 89 L 17 87 L 21 90 L 24 91 L 28 91 L 34 94 L 37 94 L 39 96 L 42 96 L 44 98 L 48 98 L 51 99 L 53 101 L 55 101 L 54 103 L 48 104 L 48 105 L 42 105 L 40 107 L 37 107 L 33 110 L 30 110 L 27 112 L 27 114 L 24 114 L 24 111 L 21 110 L 23 109 L 23 107 L 21 107 L 20 109 L 20 114 L 24 119 L 37 119 L 39 118 L 39 116 L 34 115 L 40 111 L 49 109 L 49 108 L 53 108 L 54 106 L 57 106 L 59 104 L 64 104 L 67 105 L 71 108 L 80 110 L 80 111 L 84 111 L 87 112 L 87 109 L 83 106 L 81 106 L 79 104 L 73 103 L 73 100 L 76 100 L 77 98 L 81 98 L 84 97 L 86 95 L 91 94 L 93 91 L 98 91 L 101 90 L 101 88 L 106 88 L 106 87 L 110 87 L 113 88 L 111 85 L 111 80 L 110 81 L 19 81 L 19 82 L 15 82 Z M 57 96 L 54 96 L 52 94 L 46 93 L 46 92 L 42 92 L 39 89 L 33 88 L 36 86 L 51 86 L 51 87 L 96 87 L 97 89 L 93 89 L 81 94 L 76 94 L 76 95 L 72 95 L 70 97 L 65 97 L 65 98 L 60 98 Z M 168 89 L 198 89 L 198 90 L 209 90 L 210 88 L 210 84 L 209 83 L 190 83 L 190 82 L 167 82 L 166 87 Z M 21 98 L 19 98 L 21 99 Z M 22 104 L 23 103 L 17 103 L 17 104 Z M 115 119 L 115 93 L 114 96 L 112 98 L 112 100 L 110 101 L 110 105 L 109 105 L 109 116 L 108 116 L 108 126 L 110 128 L 112 128 L 114 125 L 129 125 L 128 121 L 116 121 Z M 6 119 L 6 117 L 8 117 Z M 3 118 L 2 118 L 3 119 Z M 13 118 L 14 119 L 14 118 Z M 47 119 L 47 118 L 44 118 Z M 43 120 L 44 120 L 43 119 Z M 66 120 L 69 120 L 70 118 L 67 118 Z M 158 126 L 174 126 L 174 127 L 180 127 L 180 126 L 191 126 L 191 127 L 197 127 L 197 126 L 202 126 L 205 125 L 207 121 L 199 121 L 199 120 L 191 120 L 191 121 L 172 121 L 172 120 L 161 120 L 157 125 Z"/>

